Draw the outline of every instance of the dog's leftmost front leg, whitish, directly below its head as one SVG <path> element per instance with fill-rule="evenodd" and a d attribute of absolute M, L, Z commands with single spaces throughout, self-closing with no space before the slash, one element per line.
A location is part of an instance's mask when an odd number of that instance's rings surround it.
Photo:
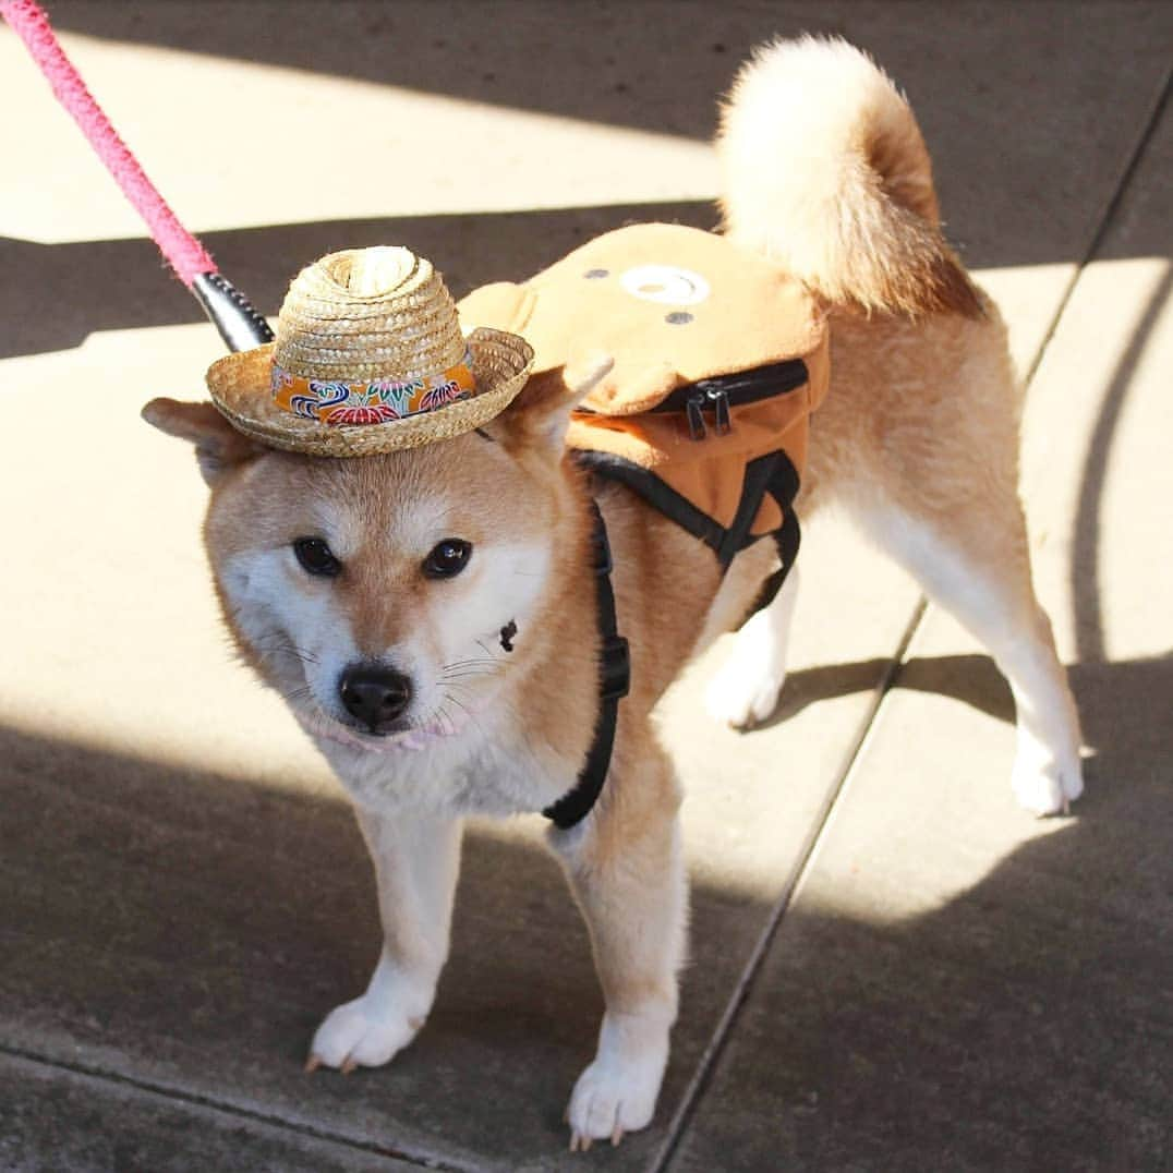
<path fill-rule="evenodd" d="M 384 944 L 366 992 L 337 1006 L 318 1028 L 307 1070 L 377 1067 L 415 1038 L 432 1009 L 448 957 L 460 821 L 357 807 L 374 861 Z"/>

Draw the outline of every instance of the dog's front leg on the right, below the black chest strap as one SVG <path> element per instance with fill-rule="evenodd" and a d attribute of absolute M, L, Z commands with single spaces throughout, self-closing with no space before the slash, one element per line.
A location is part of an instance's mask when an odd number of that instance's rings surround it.
<path fill-rule="evenodd" d="M 619 719 L 621 728 L 624 724 Z M 624 732 L 595 809 L 551 845 L 590 927 L 606 1011 L 595 1060 L 579 1076 L 567 1118 L 571 1150 L 643 1128 L 656 1110 L 684 957 L 686 890 L 671 764 L 652 731 Z M 637 743 L 638 739 L 638 743 Z"/>

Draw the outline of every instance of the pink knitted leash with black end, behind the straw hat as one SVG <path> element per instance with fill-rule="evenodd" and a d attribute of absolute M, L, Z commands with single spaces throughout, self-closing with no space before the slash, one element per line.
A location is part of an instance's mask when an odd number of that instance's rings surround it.
<path fill-rule="evenodd" d="M 66 56 L 43 9 L 33 0 L 0 0 L 0 15 L 25 42 L 57 101 L 73 115 L 123 195 L 147 222 L 168 264 L 196 296 L 229 350 L 242 351 L 267 343 L 273 337 L 269 324 L 249 299 L 221 274 L 216 262 L 178 222 L 147 178 L 138 161 L 118 137 Z"/>

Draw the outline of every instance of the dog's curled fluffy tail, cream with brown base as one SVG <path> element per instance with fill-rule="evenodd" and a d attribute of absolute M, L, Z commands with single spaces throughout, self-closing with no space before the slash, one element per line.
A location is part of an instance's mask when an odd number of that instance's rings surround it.
<path fill-rule="evenodd" d="M 728 235 L 829 301 L 982 312 L 941 233 L 913 111 L 865 53 L 811 36 L 759 49 L 734 82 L 717 145 Z"/>

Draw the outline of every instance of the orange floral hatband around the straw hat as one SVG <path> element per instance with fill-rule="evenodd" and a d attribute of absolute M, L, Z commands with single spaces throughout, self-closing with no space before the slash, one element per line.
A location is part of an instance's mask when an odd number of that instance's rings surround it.
<path fill-rule="evenodd" d="M 303 419 L 331 425 L 387 423 L 468 399 L 476 392 L 476 378 L 473 357 L 466 351 L 461 362 L 438 374 L 367 382 L 303 379 L 273 362 L 270 387 L 278 407 Z"/>

